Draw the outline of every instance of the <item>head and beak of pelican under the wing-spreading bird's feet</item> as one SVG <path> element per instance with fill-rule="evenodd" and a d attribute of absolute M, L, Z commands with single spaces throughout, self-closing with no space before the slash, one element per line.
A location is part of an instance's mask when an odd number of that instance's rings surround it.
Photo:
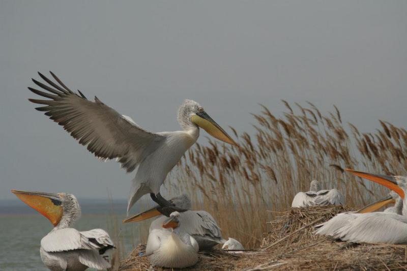
<path fill-rule="evenodd" d="M 189 199 L 187 194 L 182 194 L 180 196 L 173 197 L 169 201 L 178 208 L 186 209 L 186 210 L 191 209 L 191 200 Z M 151 208 L 151 209 L 149 209 L 149 210 L 147 210 L 145 212 L 139 213 L 137 215 L 134 215 L 132 217 L 129 217 L 129 218 L 123 220 L 123 223 L 139 222 L 139 221 L 143 221 L 143 220 L 153 218 L 153 217 L 156 217 L 156 216 L 160 216 L 160 215 L 167 215 L 168 216 L 168 213 L 169 212 L 167 212 L 166 207 L 156 205 L 153 208 Z M 178 213 L 178 212 L 173 212 L 173 213 Z"/>

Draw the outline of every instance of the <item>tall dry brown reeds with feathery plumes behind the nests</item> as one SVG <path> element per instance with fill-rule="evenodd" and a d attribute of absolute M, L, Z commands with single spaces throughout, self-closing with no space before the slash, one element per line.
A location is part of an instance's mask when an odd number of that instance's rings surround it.
<path fill-rule="evenodd" d="M 252 114 L 255 134 L 238 134 L 239 147 L 209 140 L 195 144 L 171 172 L 166 188 L 188 193 L 194 209 L 211 213 L 224 237 L 234 237 L 246 248 L 258 247 L 266 222 L 289 208 L 294 195 L 308 191 L 311 180 L 337 188 L 349 206 L 362 206 L 388 191 L 343 168 L 376 173 L 407 173 L 407 132 L 379 121 L 379 128 L 362 133 L 343 123 L 336 106 L 323 114 L 312 103 L 283 101 L 277 117 L 264 105 Z"/>

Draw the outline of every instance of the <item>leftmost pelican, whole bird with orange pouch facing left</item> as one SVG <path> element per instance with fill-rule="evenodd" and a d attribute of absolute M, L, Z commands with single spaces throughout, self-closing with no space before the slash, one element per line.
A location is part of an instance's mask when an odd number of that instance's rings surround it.
<path fill-rule="evenodd" d="M 103 256 L 114 248 L 109 234 L 102 229 L 77 231 L 72 224 L 81 212 L 74 195 L 12 190 L 20 200 L 46 217 L 54 228 L 41 239 L 42 262 L 52 271 L 81 271 L 88 267 L 110 268 Z"/>

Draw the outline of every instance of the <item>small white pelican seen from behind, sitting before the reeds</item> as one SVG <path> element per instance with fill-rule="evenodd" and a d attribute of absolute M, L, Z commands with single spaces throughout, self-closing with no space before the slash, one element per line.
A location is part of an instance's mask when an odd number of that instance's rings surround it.
<path fill-rule="evenodd" d="M 291 207 L 344 204 L 345 198 L 337 189 L 322 190 L 321 184 L 317 180 L 313 180 L 308 192 L 299 192 L 295 195 Z"/>

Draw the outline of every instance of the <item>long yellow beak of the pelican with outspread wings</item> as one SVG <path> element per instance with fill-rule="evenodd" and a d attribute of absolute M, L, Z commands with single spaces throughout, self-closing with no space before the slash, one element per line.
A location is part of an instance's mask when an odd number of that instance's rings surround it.
<path fill-rule="evenodd" d="M 205 111 L 193 115 L 191 121 L 207 131 L 211 136 L 231 145 L 238 145 Z"/>

